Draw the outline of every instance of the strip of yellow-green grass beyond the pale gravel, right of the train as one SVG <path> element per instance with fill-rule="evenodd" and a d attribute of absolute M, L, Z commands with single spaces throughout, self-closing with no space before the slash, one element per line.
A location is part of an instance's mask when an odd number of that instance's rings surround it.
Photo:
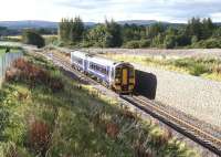
<path fill-rule="evenodd" d="M 203 78 L 221 81 L 221 60 L 219 59 L 151 59 L 149 56 L 104 54 L 116 61 L 126 61 L 162 70 L 176 71 Z"/>

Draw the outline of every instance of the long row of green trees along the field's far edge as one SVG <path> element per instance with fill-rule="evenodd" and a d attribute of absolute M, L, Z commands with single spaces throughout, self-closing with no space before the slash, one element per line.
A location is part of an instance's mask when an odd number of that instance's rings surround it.
<path fill-rule="evenodd" d="M 187 24 L 124 24 L 114 20 L 86 27 L 80 17 L 62 19 L 60 44 L 98 48 L 221 48 L 221 27 L 210 18 L 192 18 Z"/>

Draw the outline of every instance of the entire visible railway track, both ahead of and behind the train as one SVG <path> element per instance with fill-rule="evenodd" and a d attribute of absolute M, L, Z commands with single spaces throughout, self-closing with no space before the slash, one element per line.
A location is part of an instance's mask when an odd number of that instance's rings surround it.
<path fill-rule="evenodd" d="M 45 56 L 45 54 L 42 53 L 40 54 Z M 94 85 L 101 85 L 93 78 L 85 76 L 84 74 L 82 74 L 76 70 L 73 70 L 71 67 L 71 64 L 69 62 L 65 62 L 60 56 L 53 55 L 53 62 L 61 64 L 61 66 L 77 75 L 82 81 L 86 81 Z M 173 128 L 178 133 L 200 144 L 204 148 L 208 148 L 213 154 L 221 156 L 220 136 L 214 136 L 212 133 L 203 130 L 202 128 L 199 128 L 197 125 L 189 123 L 187 119 L 181 119 L 178 116 L 172 115 L 171 113 L 166 111 L 166 108 L 160 107 L 159 105 L 155 104 L 146 98 L 144 100 L 144 97 L 120 95 L 120 98 L 135 105 L 136 107 L 151 115 L 152 117 L 159 119 L 160 122 L 165 123 L 166 125 Z"/>

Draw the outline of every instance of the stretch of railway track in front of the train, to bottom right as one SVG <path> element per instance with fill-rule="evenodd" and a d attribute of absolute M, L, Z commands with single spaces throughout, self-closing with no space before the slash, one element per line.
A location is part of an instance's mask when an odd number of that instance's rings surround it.
<path fill-rule="evenodd" d="M 169 114 L 165 108 L 159 107 L 155 103 L 143 100 L 136 96 L 122 95 L 122 98 L 136 105 L 138 108 L 145 111 L 152 117 L 159 119 L 160 122 L 167 124 L 175 130 L 181 133 L 182 135 L 189 137 L 193 142 L 200 144 L 201 146 L 208 148 L 218 156 L 221 156 L 221 139 L 213 136 L 211 133 L 207 133 L 201 128 L 188 123 L 185 119 L 180 119 L 177 116 Z"/>

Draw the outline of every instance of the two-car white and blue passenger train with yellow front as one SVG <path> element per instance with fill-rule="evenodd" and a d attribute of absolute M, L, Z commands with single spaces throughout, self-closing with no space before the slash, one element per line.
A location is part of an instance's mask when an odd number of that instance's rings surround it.
<path fill-rule="evenodd" d="M 126 62 L 114 62 L 85 52 L 71 52 L 71 64 L 78 71 L 93 75 L 107 87 L 129 94 L 135 87 L 135 69 Z"/>

